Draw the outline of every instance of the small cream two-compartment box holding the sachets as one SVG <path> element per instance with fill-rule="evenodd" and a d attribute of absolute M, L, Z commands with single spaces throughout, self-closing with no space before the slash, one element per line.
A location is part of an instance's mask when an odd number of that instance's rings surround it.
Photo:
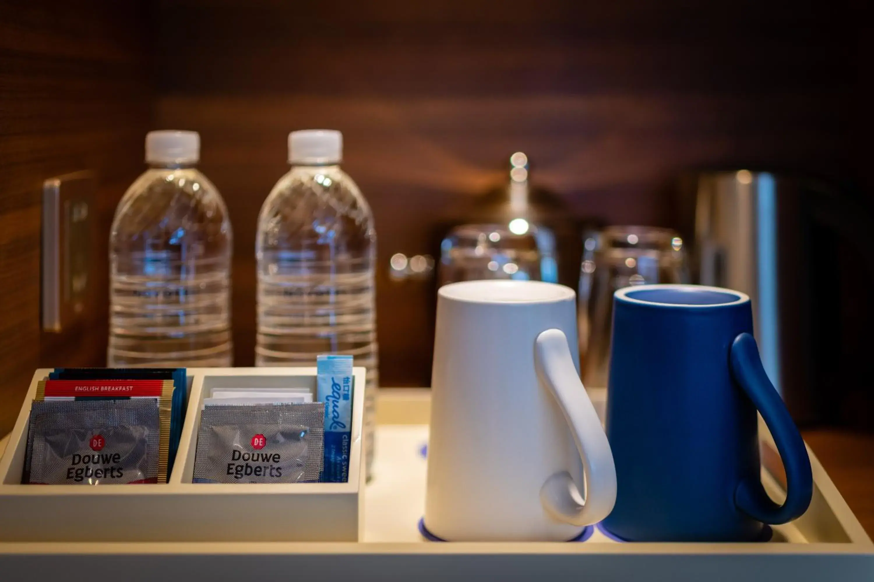
<path fill-rule="evenodd" d="M 353 391 L 348 483 L 191 483 L 200 407 L 213 387 L 309 387 L 316 394 L 315 367 L 267 367 L 189 368 L 188 408 L 168 483 L 22 485 L 31 401 L 49 372 L 34 374 L 0 460 L 0 543 L 358 540 L 363 390 Z M 364 386 L 364 368 L 353 373 L 355 386 Z"/>

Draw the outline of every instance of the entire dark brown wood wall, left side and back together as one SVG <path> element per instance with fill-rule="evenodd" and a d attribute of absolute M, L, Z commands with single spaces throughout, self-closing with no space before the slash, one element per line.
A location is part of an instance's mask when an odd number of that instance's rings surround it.
<path fill-rule="evenodd" d="M 864 3 L 0 1 L 0 432 L 38 364 L 104 362 L 106 239 L 149 128 L 194 129 L 231 209 L 235 360 L 253 362 L 253 240 L 292 129 L 343 131 L 379 237 L 384 386 L 427 386 L 434 282 L 388 257 L 531 176 L 579 218 L 673 225 L 690 168 L 769 168 L 872 186 Z M 38 325 L 46 177 L 100 175 L 94 316 Z M 47 346 L 51 346 L 48 349 Z"/>

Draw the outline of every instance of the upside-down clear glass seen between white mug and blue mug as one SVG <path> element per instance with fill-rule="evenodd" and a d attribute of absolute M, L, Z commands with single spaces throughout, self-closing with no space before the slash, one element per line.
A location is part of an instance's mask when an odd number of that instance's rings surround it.
<path fill-rule="evenodd" d="M 610 226 L 584 236 L 579 272 L 579 360 L 586 387 L 606 387 L 614 291 L 688 283 L 683 239 L 671 229 Z"/>

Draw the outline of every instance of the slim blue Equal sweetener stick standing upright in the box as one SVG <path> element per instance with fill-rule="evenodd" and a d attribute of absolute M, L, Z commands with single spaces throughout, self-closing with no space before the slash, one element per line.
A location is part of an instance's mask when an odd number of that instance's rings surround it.
<path fill-rule="evenodd" d="M 352 438 L 352 356 L 316 358 L 316 399 L 325 405 L 324 466 L 319 481 L 349 481 Z"/>

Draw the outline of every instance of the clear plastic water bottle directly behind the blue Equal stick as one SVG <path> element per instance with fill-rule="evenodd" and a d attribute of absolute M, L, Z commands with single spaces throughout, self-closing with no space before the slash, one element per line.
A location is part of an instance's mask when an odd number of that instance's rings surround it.
<path fill-rule="evenodd" d="M 258 366 L 316 366 L 320 353 L 353 356 L 367 367 L 364 454 L 371 476 L 373 399 L 378 386 L 370 206 L 340 169 L 343 134 L 288 135 L 291 171 L 261 207 L 258 259 Z M 357 389 L 358 387 L 356 387 Z"/>

